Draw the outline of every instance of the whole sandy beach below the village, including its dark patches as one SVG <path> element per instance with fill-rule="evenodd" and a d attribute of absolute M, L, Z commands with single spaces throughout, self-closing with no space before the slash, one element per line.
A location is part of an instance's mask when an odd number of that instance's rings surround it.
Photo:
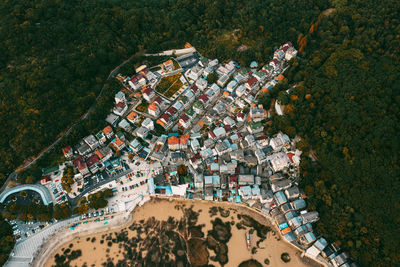
<path fill-rule="evenodd" d="M 64 258 L 70 266 L 103 266 L 107 262 L 112 266 L 119 261 L 130 266 L 139 262 L 164 266 L 165 261 L 177 266 L 239 266 L 249 259 L 262 266 L 320 266 L 301 258 L 298 249 L 281 240 L 268 219 L 232 203 L 152 199 L 133 212 L 128 227 L 81 236 L 54 248 L 46 266 L 55 266 L 56 259 L 60 263 Z M 282 253 L 289 254 L 289 262 L 281 260 Z"/>

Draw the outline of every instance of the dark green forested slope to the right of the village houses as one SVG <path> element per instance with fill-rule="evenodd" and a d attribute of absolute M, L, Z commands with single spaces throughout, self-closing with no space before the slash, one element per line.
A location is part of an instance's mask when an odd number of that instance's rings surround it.
<path fill-rule="evenodd" d="M 336 2 L 335 2 L 336 3 Z M 318 230 L 365 266 L 397 266 L 399 3 L 342 2 L 308 35 L 280 127 L 308 153 L 303 184 Z M 302 83 L 299 83 L 304 81 Z"/>

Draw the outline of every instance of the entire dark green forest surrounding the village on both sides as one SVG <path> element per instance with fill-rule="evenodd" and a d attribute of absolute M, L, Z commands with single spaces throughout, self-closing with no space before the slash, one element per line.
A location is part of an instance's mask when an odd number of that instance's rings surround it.
<path fill-rule="evenodd" d="M 318 232 L 362 266 L 396 266 L 399 10 L 394 0 L 3 1 L 0 181 L 79 121 L 103 86 L 90 117 L 19 182 L 39 180 L 61 160 L 60 147 L 104 126 L 119 90 L 106 79 L 134 54 L 190 42 L 206 57 L 248 65 L 291 41 L 299 57 L 263 100 L 286 105 L 275 130 L 303 138 L 303 188 L 321 213 Z"/>

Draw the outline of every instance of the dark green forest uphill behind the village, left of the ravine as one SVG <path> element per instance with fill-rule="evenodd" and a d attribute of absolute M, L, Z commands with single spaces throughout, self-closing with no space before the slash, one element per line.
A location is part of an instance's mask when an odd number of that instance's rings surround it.
<path fill-rule="evenodd" d="M 4 179 L 82 116 L 110 70 L 139 50 L 158 52 L 190 42 L 206 56 L 263 62 L 275 46 L 306 31 L 328 1 L 17 0 L 0 7 Z M 248 49 L 238 52 L 242 45 Z"/>

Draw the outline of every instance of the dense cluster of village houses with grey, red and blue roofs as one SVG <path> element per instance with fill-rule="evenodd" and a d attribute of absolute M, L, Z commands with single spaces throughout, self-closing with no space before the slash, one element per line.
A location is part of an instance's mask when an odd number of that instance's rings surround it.
<path fill-rule="evenodd" d="M 85 137 L 74 150 L 64 148 L 64 155 L 85 176 L 118 170 L 116 153 L 126 151 L 152 163 L 151 194 L 247 203 L 271 216 L 283 237 L 308 256 L 322 255 L 334 266 L 351 266 L 346 265 L 346 253 L 313 230 L 318 212 L 306 210 L 306 196 L 297 187 L 297 139 L 282 132 L 265 134 L 271 111 L 257 103 L 258 94 L 284 79 L 288 61 L 296 54 L 287 42 L 261 68 L 257 62 L 240 68 L 234 61 L 221 64 L 200 57 L 185 70 L 189 85 L 173 101 L 153 89 L 163 71 L 173 70 L 173 62 L 164 62 L 156 72 L 143 67 L 123 84 L 146 99 L 147 110 L 129 107 L 128 97 L 118 92 L 106 118 L 109 126 Z M 207 81 L 211 73 L 218 76 L 215 83 Z M 157 124 L 167 133 L 157 134 Z M 182 166 L 187 170 L 184 179 L 179 174 Z"/>

